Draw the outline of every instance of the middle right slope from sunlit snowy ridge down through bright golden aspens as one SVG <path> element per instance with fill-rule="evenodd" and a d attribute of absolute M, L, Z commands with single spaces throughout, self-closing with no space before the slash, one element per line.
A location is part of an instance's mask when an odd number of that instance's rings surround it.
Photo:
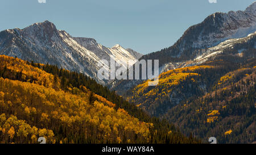
<path fill-rule="evenodd" d="M 139 107 L 149 114 L 162 115 L 182 100 L 208 93 L 210 89 L 214 89 L 212 86 L 221 76 L 254 62 L 255 47 L 256 33 L 239 39 L 226 40 L 208 48 L 204 54 L 194 60 L 173 64 L 175 69 L 163 70 L 155 87 L 147 85 L 150 81 L 148 79 L 136 86 L 130 86 L 132 89 L 127 89 L 123 95 L 131 102 L 139 104 Z M 196 82 L 193 82 L 194 80 Z M 118 86 L 129 87 L 129 85 Z"/>

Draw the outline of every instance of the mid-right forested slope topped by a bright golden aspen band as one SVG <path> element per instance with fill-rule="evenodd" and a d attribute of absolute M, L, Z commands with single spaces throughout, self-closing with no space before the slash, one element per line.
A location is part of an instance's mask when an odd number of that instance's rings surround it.
<path fill-rule="evenodd" d="M 191 66 L 169 70 L 159 76 L 157 86 L 148 86 L 148 81 L 127 91 L 127 99 L 153 116 L 162 116 L 182 100 L 208 91 L 230 64 Z"/>

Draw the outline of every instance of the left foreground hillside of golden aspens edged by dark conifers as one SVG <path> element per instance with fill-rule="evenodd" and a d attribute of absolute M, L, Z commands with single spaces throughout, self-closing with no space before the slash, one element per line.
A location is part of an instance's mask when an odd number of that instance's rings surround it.
<path fill-rule="evenodd" d="M 0 143 L 40 136 L 47 143 L 199 142 L 83 74 L 0 56 Z"/>

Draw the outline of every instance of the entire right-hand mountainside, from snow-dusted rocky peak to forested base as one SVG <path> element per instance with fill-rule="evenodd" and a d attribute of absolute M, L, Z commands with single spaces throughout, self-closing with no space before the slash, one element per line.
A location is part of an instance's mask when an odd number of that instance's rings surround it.
<path fill-rule="evenodd" d="M 142 56 L 159 59 L 157 86 L 133 80 L 114 89 L 204 143 L 255 143 L 255 6 L 210 15 L 172 47 Z"/>

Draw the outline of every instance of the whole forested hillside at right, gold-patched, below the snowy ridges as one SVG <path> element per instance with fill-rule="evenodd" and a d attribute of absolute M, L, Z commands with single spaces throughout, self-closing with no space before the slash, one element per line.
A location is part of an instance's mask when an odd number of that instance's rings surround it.
<path fill-rule="evenodd" d="M 238 54 L 226 49 L 200 66 L 169 70 L 159 85 L 148 81 L 127 92 L 127 98 L 174 123 L 182 132 L 207 143 L 253 143 L 256 141 L 255 49 Z"/>

